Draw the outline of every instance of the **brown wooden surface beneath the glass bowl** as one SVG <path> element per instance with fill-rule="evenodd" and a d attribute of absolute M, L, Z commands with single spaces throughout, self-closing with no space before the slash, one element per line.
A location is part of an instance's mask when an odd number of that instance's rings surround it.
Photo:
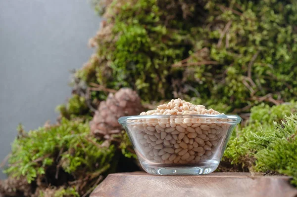
<path fill-rule="evenodd" d="M 90 197 L 297 197 L 297 189 L 286 176 L 157 176 L 133 172 L 109 174 Z"/>

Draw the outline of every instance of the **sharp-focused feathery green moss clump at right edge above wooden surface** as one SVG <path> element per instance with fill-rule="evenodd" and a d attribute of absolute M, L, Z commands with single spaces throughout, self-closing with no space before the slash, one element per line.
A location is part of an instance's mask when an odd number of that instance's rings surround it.
<path fill-rule="evenodd" d="M 292 184 L 297 186 L 297 115 L 286 117 L 285 120 L 276 124 L 274 132 L 255 136 L 260 142 L 264 141 L 264 147 L 255 155 L 255 169 L 292 176 Z"/>

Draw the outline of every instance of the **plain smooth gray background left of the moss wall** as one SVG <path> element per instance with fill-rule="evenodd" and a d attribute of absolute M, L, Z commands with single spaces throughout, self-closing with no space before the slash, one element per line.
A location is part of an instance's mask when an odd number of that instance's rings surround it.
<path fill-rule="evenodd" d="M 71 95 L 69 70 L 89 59 L 99 22 L 90 0 L 0 0 L 0 161 L 19 122 L 55 122 Z"/>

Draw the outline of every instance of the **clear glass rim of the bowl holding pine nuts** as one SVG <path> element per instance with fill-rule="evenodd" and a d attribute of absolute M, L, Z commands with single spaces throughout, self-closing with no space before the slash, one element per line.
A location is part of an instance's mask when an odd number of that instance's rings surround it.
<path fill-rule="evenodd" d="M 231 119 L 231 121 L 215 121 L 215 122 L 226 122 L 226 123 L 235 123 L 238 124 L 242 120 L 242 118 L 238 115 L 224 115 L 224 114 L 219 114 L 219 115 L 145 115 L 145 116 L 125 116 L 125 117 L 120 117 L 118 119 L 118 122 L 120 124 L 129 124 L 133 123 L 135 124 L 136 122 L 128 122 L 128 120 L 136 120 L 136 119 L 155 119 L 155 118 L 220 118 L 220 119 Z M 202 123 L 202 122 L 201 122 Z"/>

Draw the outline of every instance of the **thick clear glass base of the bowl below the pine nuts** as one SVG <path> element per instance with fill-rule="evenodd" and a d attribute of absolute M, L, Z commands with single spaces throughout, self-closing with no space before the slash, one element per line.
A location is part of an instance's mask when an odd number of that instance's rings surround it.
<path fill-rule="evenodd" d="M 213 172 L 219 165 L 217 161 L 206 161 L 193 166 L 170 166 L 168 164 L 149 165 L 143 164 L 142 167 L 149 174 L 155 175 L 202 175 Z"/>

